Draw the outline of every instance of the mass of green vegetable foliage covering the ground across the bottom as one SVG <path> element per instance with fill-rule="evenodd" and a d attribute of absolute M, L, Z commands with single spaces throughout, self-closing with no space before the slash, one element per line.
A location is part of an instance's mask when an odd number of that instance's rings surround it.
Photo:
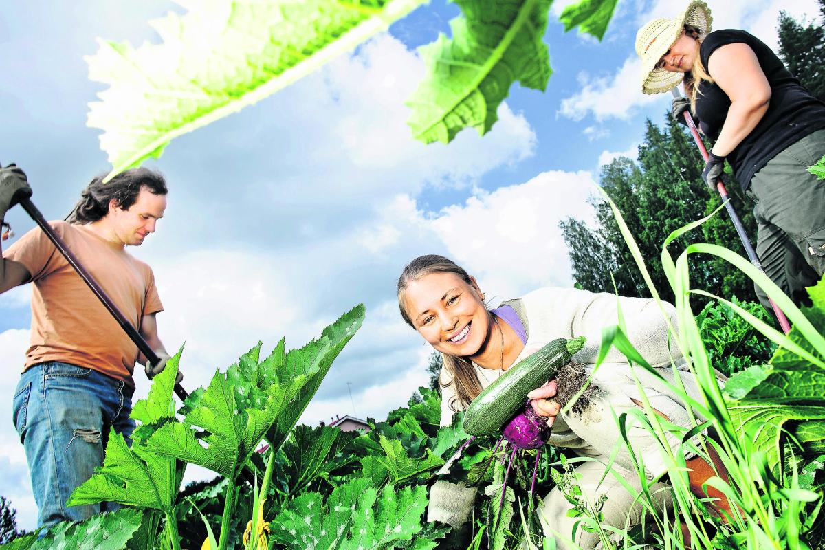
<path fill-rule="evenodd" d="M 688 252 L 695 253 L 691 247 Z M 670 269 L 667 261 L 665 266 Z M 687 327 L 687 340 L 698 336 L 700 330 L 704 332 L 705 346 L 716 350 L 710 357 L 718 354 L 720 359 L 729 359 L 731 355 L 753 354 L 748 360 L 751 366 L 730 379 L 725 395 L 719 396 L 721 402 L 714 404 L 713 397 L 708 397 L 707 403 L 694 403 L 696 410 L 709 407 L 715 411 L 709 416 L 716 430 L 722 434 L 730 430 L 733 435 L 729 440 L 723 437 L 731 448 L 719 444 L 731 476 L 729 485 L 723 487 L 739 503 L 743 517 L 721 524 L 709 515 L 706 503 L 689 491 L 680 498 L 680 472 L 684 472 L 685 464 L 683 459 L 680 463 L 677 456 L 672 457 L 670 491 L 674 492 L 677 511 L 689 524 L 695 548 L 819 548 L 817 541 L 825 541 L 817 530 L 823 523 L 825 487 L 825 418 L 819 414 L 825 409 L 825 386 L 820 380 L 825 371 L 817 364 L 823 359 L 823 348 L 809 330 L 825 329 L 825 281 L 812 289 L 811 295 L 813 307 L 803 312 L 810 327 L 789 310 L 797 326 L 790 344 L 772 334 L 770 327 L 757 317 L 748 317 L 747 309 L 739 303 L 705 308 L 693 322 L 695 329 L 687 317 L 680 317 L 680 323 Z M 116 443 L 113 438 L 104 466 L 73 495 L 78 501 L 113 498 L 124 502 L 127 508 L 82 524 L 61 525 L 40 541 L 31 535 L 2 548 L 213 548 L 207 539 L 207 524 L 219 534 L 223 548 L 242 548 L 244 529 L 252 534 L 252 542 L 245 545 L 248 549 L 543 548 L 552 541 L 543 538 L 536 510 L 541 497 L 556 484 L 576 503 L 573 514 L 581 519 L 580 529 L 599 532 L 601 501 L 596 499 L 592 503 L 584 498 L 582 491 L 577 490 L 575 471 L 553 447 L 542 453 L 535 495 L 529 491 L 535 459 L 530 452 L 516 460 L 502 502 L 502 458 L 509 455 L 509 449 L 494 449 L 497 438 L 478 438 L 456 458 L 455 451 L 468 438 L 462 428 L 463 414 L 456 414 L 452 425 L 440 427 L 440 399 L 427 388 L 419 388 L 419 397 L 411 399 L 407 407 L 391 411 L 387 421 L 370 419 L 369 433 L 299 425 L 287 430 L 279 443 L 278 434 L 283 432 L 263 429 L 254 415 L 266 415 L 271 407 L 267 396 L 292 393 L 299 396 L 293 401 L 294 407 L 303 410 L 307 393 L 295 392 L 295 384 L 290 380 L 303 377 L 307 385 L 314 385 L 313 376 L 323 376 L 334 355 L 360 326 L 362 315 L 361 308 L 347 313 L 328 327 L 321 339 L 301 350 L 285 353 L 281 342 L 269 357 L 260 360 L 260 347 L 256 346 L 227 373 L 216 374 L 209 388 L 193 393 L 191 401 L 187 400 L 178 411 L 183 421 L 172 407 L 171 384 L 180 359 L 178 354 L 167 370 L 155 378 L 147 399 L 134 407 L 141 425 L 132 447 Z M 747 334 L 744 343 L 736 347 L 736 339 L 747 332 L 744 322 L 736 321 L 738 315 L 744 315 L 758 331 L 769 333 L 784 345 L 769 362 L 765 358 L 771 351 L 751 342 Z M 716 337 L 716 327 L 725 324 L 730 330 Z M 643 365 L 643 358 L 634 355 L 634 350 L 621 340 L 621 327 L 606 334 L 612 334 L 613 340 L 603 341 L 604 346 L 620 346 L 637 364 Z M 674 342 L 683 344 L 681 340 Z M 697 368 L 707 368 L 702 367 L 701 353 L 694 355 L 694 360 Z M 728 364 L 737 369 L 744 363 Z M 287 372 L 294 374 L 281 378 Z M 273 384 L 280 389 L 273 388 Z M 215 393 L 215 388 L 221 391 Z M 217 399 L 219 395 L 224 397 Z M 238 408 L 237 415 L 226 418 L 221 414 L 227 410 L 229 399 L 236 400 L 236 404 L 260 400 L 261 404 L 254 407 L 261 410 L 243 415 Z M 642 415 L 640 410 L 639 416 Z M 297 416 L 294 412 L 288 415 Z M 645 417 L 653 423 L 658 418 L 652 412 Z M 153 444 L 155 438 L 165 433 L 161 430 L 168 430 L 164 428 L 167 425 L 181 425 L 185 429 L 181 439 L 177 443 Z M 652 424 L 645 425 L 653 430 Z M 257 497 L 257 483 L 252 485 L 241 477 L 231 477 L 238 471 L 238 457 L 246 456 L 250 448 L 245 442 L 251 430 L 274 434 L 264 455 L 266 464 L 257 453 L 243 462 L 260 481 L 261 496 Z M 195 438 L 194 443 L 191 437 Z M 200 449 L 187 450 L 191 444 Z M 201 453 L 210 452 L 213 445 L 233 449 L 226 457 L 201 461 L 210 463 L 222 475 L 211 482 L 193 484 L 178 494 L 184 463 L 164 453 L 200 457 Z M 172 450 L 176 446 L 177 450 Z M 154 468 L 153 460 L 160 463 L 161 458 L 168 458 L 175 468 L 169 469 L 170 463 Z M 557 467 L 559 459 L 561 468 Z M 773 472 L 771 466 L 776 466 Z M 468 524 L 455 528 L 426 521 L 428 487 L 436 479 L 479 488 Z M 167 501 L 165 491 L 169 487 L 172 497 Z M 138 492 L 141 494 L 134 494 Z M 644 503 L 648 496 L 643 492 L 639 499 Z M 252 518 L 256 519 L 255 527 L 250 525 Z M 672 529 L 672 515 L 670 518 L 652 514 L 648 528 L 622 534 L 623 544 L 680 548 L 681 532 Z M 700 531 L 704 529 L 700 527 L 702 522 L 715 525 L 715 538 Z M 653 534 L 651 526 L 661 532 Z M 789 532 L 793 534 L 794 529 L 797 534 L 793 536 L 800 541 L 796 546 L 789 539 Z M 177 537 L 173 537 L 176 533 Z M 608 543 L 605 548 L 619 547 Z"/>

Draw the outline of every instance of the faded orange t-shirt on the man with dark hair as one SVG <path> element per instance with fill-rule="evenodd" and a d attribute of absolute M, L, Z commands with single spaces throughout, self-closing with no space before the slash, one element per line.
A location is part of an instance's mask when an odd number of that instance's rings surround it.
<path fill-rule="evenodd" d="M 50 222 L 54 232 L 92 274 L 133 327 L 144 315 L 163 311 L 152 269 L 125 247 L 82 225 Z M 40 228 L 32 229 L 3 254 L 26 266 L 34 283 L 31 346 L 26 367 L 62 361 L 95 369 L 134 388 L 138 346 L 68 264 Z"/>

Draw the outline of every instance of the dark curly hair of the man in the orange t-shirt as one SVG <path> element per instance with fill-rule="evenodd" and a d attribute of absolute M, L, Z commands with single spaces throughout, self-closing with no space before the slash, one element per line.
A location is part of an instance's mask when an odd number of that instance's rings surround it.
<path fill-rule="evenodd" d="M 132 168 L 103 183 L 105 176 L 97 176 L 86 186 L 80 194 L 78 204 L 74 205 L 66 217 L 68 223 L 92 223 L 105 218 L 109 214 L 111 200 L 115 200 L 115 204 L 122 209 L 130 209 L 144 187 L 153 195 L 166 195 L 169 192 L 163 174 L 148 168 Z"/>

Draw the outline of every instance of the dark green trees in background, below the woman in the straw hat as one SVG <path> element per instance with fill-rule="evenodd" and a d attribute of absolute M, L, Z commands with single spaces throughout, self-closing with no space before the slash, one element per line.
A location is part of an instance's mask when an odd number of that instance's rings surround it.
<path fill-rule="evenodd" d="M 650 120 L 646 122 L 638 162 L 620 157 L 601 167 L 601 186 L 619 207 L 653 284 L 667 300 L 672 300 L 673 294 L 662 270 L 662 243 L 677 228 L 704 217 L 721 204 L 719 196 L 711 195 L 701 179 L 704 166 L 691 135 L 668 115 L 664 129 Z M 738 183 L 730 176 L 728 181 L 735 208 L 755 238 L 752 205 L 742 200 Z M 595 292 L 616 290 L 621 295 L 649 297 L 647 285 L 609 204 L 595 198 L 593 205 L 597 228 L 588 228 L 577 219 L 561 223 L 573 263 L 573 277 L 582 287 Z M 671 255 L 677 256 L 691 242 L 714 242 L 744 254 L 733 224 L 724 212 L 673 242 L 669 249 Z M 691 256 L 691 287 L 726 297 L 735 294 L 740 299 L 755 299 L 747 277 L 727 262 L 712 257 Z"/>

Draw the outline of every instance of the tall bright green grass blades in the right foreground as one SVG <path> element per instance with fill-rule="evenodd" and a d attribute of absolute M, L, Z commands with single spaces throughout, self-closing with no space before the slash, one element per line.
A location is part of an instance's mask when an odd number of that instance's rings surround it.
<path fill-rule="evenodd" d="M 615 204 L 610 197 L 606 197 L 606 200 L 613 209 L 621 233 L 648 284 L 653 299 L 659 303 L 662 314 L 664 314 L 662 300 L 658 290 L 653 286 L 639 247 L 634 242 Z M 615 418 L 615 421 L 618 422 L 623 435 L 620 445 L 624 445 L 634 458 L 642 489 L 641 491 L 634 490 L 628 483 L 625 483 L 625 487 L 646 510 L 644 527 L 654 529 L 643 529 L 647 534 L 643 540 L 639 540 L 638 537 L 634 537 L 634 529 L 625 525 L 624 530 L 618 529 L 617 533 L 612 533 L 610 536 L 602 534 L 601 545 L 603 548 L 641 548 L 640 545 L 645 544 L 647 545 L 645 548 L 667 549 L 790 548 L 796 550 L 825 548 L 823 535 L 817 532 L 817 528 L 825 524 L 823 487 L 814 486 L 817 490 L 811 490 L 800 486 L 799 468 L 804 465 L 804 462 L 799 460 L 788 461 L 784 463 L 784 467 L 772 468 L 772 461 L 765 449 L 755 443 L 758 431 L 761 430 L 760 425 L 752 423 L 746 426 L 734 420 L 728 408 L 729 402 L 719 386 L 717 374 L 711 366 L 708 352 L 700 337 L 700 327 L 691 308 L 691 298 L 701 295 L 727 304 L 777 346 L 784 347 L 809 361 L 813 369 L 825 368 L 823 360 L 820 359 L 825 357 L 825 337 L 766 275 L 735 252 L 724 247 L 699 243 L 686 247 L 676 259 L 670 255 L 667 250 L 670 242 L 698 227 L 709 217 L 676 230 L 662 246 L 662 266 L 676 297 L 674 305 L 679 330 L 670 326 L 673 349 L 679 352 L 674 356 L 683 355 L 686 358 L 691 375 L 700 383 L 700 396 L 694 398 L 688 395 L 681 382 L 680 371 L 676 369 L 675 361 L 672 362 L 675 383 L 669 383 L 658 369 L 653 369 L 634 350 L 625 336 L 627 331 L 621 314 L 618 325 L 606 330 L 602 339 L 600 360 L 596 363 L 596 369 L 610 346 L 616 346 L 625 353 L 632 371 L 634 369 L 647 370 L 681 397 L 687 404 L 691 418 L 695 419 L 695 425 L 692 429 L 673 425 L 655 414 L 644 393 L 643 385 L 639 383 L 639 377 L 634 371 L 639 393 L 642 396 L 643 408 L 622 414 Z M 804 345 L 800 345 L 797 341 L 775 330 L 737 303 L 701 289 L 691 289 L 690 262 L 691 256 L 695 254 L 718 256 L 742 270 L 762 289 L 765 289 L 799 331 Z M 665 317 L 669 318 L 667 315 Z M 670 325 L 669 321 L 668 324 Z M 682 371 L 681 374 L 686 373 Z M 825 405 L 825 397 L 822 397 L 822 400 L 822 404 Z M 698 420 L 699 417 L 706 418 L 708 421 L 701 422 Z M 666 479 L 661 481 L 668 483 L 667 491 L 671 492 L 673 501 L 672 510 L 661 510 L 653 501 L 653 482 L 660 480 L 648 479 L 644 474 L 643 457 L 634 455 L 627 437 L 633 425 L 648 430 L 661 445 L 662 457 L 667 464 L 667 474 L 663 476 Z M 713 436 L 702 437 L 699 440 L 700 443 L 697 444 L 694 436 L 700 433 L 711 433 Z M 666 439 L 667 434 L 676 435 L 681 444 L 674 449 L 672 443 Z M 689 484 L 686 455 L 699 456 L 709 464 L 713 464 L 711 458 L 714 453 L 718 454 L 727 476 L 714 466 L 716 475 L 709 478 L 705 488 L 714 487 L 721 491 L 730 504 L 730 514 L 719 514 L 714 505 L 714 499 L 696 496 Z M 624 474 L 613 469 L 607 475 L 614 475 L 622 481 Z M 583 510 L 582 513 L 587 515 L 587 510 Z M 597 523 L 598 519 L 595 514 L 591 514 L 590 517 L 582 519 L 582 524 L 592 525 Z"/>

